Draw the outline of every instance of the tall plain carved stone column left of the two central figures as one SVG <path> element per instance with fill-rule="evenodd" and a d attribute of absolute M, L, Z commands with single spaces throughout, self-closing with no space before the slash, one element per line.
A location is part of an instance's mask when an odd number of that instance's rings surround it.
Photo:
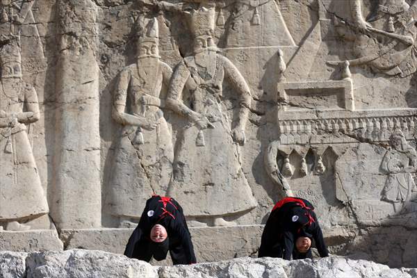
<path fill-rule="evenodd" d="M 58 229 L 101 226 L 97 6 L 58 1 L 56 142 L 51 217 Z"/>

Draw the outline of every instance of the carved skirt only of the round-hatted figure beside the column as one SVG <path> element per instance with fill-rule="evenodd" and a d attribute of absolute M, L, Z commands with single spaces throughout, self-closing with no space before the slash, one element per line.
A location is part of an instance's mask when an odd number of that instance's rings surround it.
<path fill-rule="evenodd" d="M 172 173 L 172 142 L 167 122 L 159 119 L 154 131 L 142 129 L 138 143 L 137 127 L 126 126 L 115 148 L 111 193 L 111 214 L 139 218 L 146 200 L 154 193 L 165 195 Z"/>

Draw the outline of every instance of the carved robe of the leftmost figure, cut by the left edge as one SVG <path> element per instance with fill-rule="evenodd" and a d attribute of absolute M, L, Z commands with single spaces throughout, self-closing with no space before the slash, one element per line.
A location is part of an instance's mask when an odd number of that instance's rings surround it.
<path fill-rule="evenodd" d="M 21 83 L 21 88 L 19 93 L 9 90 L 7 95 L 5 90 L 0 90 L 0 111 L 21 113 L 25 101 L 38 103 L 31 86 Z M 0 128 L 0 169 L 0 221 L 48 213 L 47 198 L 24 124 Z"/>

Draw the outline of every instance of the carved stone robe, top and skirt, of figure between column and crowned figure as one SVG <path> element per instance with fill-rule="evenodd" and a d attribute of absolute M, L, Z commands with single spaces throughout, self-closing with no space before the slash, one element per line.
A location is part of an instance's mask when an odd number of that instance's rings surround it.
<path fill-rule="evenodd" d="M 108 212 L 115 216 L 140 218 L 149 197 L 165 195 L 172 175 L 174 154 L 170 128 L 158 107 L 144 107 L 139 101 L 144 93 L 158 97 L 165 79 L 163 74 L 170 75 L 171 70 L 161 61 L 147 73 L 143 72 L 144 68 L 132 65 L 120 74 L 129 82 L 129 88 L 125 84 L 126 88 L 120 90 L 121 99 L 130 104 L 128 113 L 157 119 L 158 126 L 152 131 L 124 126 L 117 139 L 105 201 Z"/>

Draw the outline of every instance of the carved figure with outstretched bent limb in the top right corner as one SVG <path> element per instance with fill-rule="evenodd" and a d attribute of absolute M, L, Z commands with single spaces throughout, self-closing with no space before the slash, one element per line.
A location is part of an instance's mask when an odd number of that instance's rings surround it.
<path fill-rule="evenodd" d="M 368 64 L 377 72 L 409 76 L 417 70 L 416 15 L 414 1 L 379 1 L 365 18 L 361 0 L 350 0 L 353 24 L 335 17 L 336 31 L 354 42 L 351 66 Z"/>

